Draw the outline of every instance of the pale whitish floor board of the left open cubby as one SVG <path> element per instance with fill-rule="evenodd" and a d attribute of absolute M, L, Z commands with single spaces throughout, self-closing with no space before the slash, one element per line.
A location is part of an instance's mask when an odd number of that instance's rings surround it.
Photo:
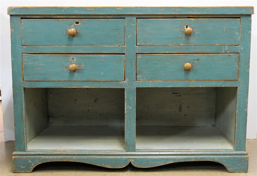
<path fill-rule="evenodd" d="M 124 126 L 48 126 L 28 150 L 125 150 Z"/>

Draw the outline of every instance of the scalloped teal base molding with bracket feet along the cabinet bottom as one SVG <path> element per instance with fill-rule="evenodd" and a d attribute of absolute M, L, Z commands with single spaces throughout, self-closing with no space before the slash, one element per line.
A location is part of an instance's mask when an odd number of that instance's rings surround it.
<path fill-rule="evenodd" d="M 13 172 L 30 173 L 39 164 L 55 161 L 80 162 L 107 168 L 122 168 L 131 163 L 147 168 L 187 161 L 213 161 L 229 172 L 248 171 L 248 153 L 222 152 L 14 152 Z"/>

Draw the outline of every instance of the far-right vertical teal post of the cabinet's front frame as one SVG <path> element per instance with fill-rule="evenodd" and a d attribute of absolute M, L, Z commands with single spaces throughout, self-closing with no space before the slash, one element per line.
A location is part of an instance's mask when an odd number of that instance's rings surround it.
<path fill-rule="evenodd" d="M 248 85 L 251 45 L 251 15 L 241 16 L 240 65 L 238 87 L 238 109 L 236 117 L 235 150 L 245 151 L 246 148 L 246 121 L 248 104 Z"/>

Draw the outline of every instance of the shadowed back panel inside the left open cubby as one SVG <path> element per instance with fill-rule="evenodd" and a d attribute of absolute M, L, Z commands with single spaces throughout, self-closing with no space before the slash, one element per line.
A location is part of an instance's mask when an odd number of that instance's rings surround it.
<path fill-rule="evenodd" d="M 124 99 L 118 88 L 49 88 L 49 125 L 124 126 Z"/>

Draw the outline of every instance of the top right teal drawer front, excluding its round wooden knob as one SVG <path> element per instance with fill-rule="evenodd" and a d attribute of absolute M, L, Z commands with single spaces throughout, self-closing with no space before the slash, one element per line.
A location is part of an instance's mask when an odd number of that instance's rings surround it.
<path fill-rule="evenodd" d="M 186 25 L 192 28 L 185 34 Z M 137 19 L 137 45 L 239 45 L 240 19 Z"/>

